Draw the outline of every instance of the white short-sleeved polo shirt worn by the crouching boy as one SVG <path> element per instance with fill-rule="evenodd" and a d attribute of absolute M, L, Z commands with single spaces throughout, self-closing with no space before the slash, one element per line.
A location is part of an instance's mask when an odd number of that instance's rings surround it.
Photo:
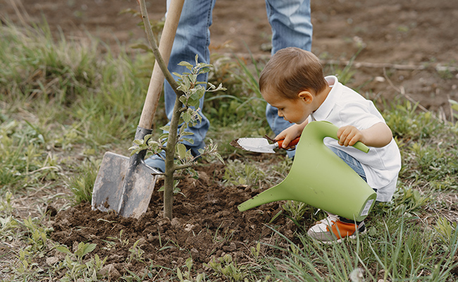
<path fill-rule="evenodd" d="M 309 116 L 309 121 L 329 121 L 338 128 L 353 125 L 359 130 L 370 128 L 376 123 L 385 123 L 372 101 L 342 85 L 335 76 L 326 76 L 325 79 L 332 89 L 323 104 Z M 333 138 L 325 138 L 324 143 L 357 159 L 364 168 L 367 183 L 377 190 L 377 200 L 391 200 L 401 169 L 401 154 L 394 139 L 385 147 L 369 147 L 367 154 L 354 147 L 341 146 Z"/>

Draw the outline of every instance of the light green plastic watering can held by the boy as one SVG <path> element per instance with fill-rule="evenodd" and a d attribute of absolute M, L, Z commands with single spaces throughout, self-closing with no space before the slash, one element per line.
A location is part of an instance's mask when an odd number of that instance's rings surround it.
<path fill-rule="evenodd" d="M 240 204 L 240 212 L 269 202 L 294 200 L 347 219 L 363 221 L 375 204 L 377 194 L 324 145 L 325 137 L 338 140 L 337 131 L 337 126 L 327 121 L 309 123 L 302 132 L 285 180 Z M 353 147 L 369 152 L 361 142 Z"/>

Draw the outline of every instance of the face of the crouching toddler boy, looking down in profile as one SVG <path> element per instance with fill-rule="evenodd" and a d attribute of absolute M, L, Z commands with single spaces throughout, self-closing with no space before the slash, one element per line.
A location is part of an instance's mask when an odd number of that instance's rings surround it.
<path fill-rule="evenodd" d="M 271 104 L 271 106 L 275 106 L 278 109 L 278 116 L 285 118 L 286 121 L 290 123 L 303 123 L 309 115 L 314 111 L 312 108 L 313 96 L 304 97 L 301 94 L 297 94 L 296 99 L 287 99 L 282 97 L 280 94 L 276 92 L 264 92 L 262 93 L 262 97 Z"/>

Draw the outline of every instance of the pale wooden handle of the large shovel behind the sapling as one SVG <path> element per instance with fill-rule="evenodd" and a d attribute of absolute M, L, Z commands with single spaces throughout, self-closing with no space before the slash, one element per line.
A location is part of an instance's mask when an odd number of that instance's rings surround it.
<path fill-rule="evenodd" d="M 168 65 L 168 60 L 170 59 L 173 40 L 175 39 L 175 33 L 178 27 L 178 22 L 180 21 L 184 3 L 185 0 L 172 0 L 171 6 L 167 11 L 166 23 L 164 23 L 161 42 L 159 42 L 159 53 L 161 53 L 163 61 L 166 65 Z M 156 61 L 154 63 L 153 73 L 151 74 L 151 80 L 149 80 L 149 87 L 147 97 L 144 101 L 142 116 L 140 116 L 140 122 L 138 124 L 141 128 L 151 129 L 154 114 L 156 114 L 159 98 L 161 97 L 163 80 L 164 75 Z"/>

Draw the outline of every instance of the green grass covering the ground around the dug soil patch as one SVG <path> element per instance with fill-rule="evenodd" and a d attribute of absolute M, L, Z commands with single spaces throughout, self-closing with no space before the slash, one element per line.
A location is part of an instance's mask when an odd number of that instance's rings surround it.
<path fill-rule="evenodd" d="M 0 29 L 0 244 L 7 250 L 0 254 L 0 277 L 36 281 L 67 271 L 68 281 L 95 281 L 101 277 L 94 278 L 94 270 L 104 258 L 91 257 L 82 264 L 94 247 L 86 243 L 76 252 L 60 247 L 68 255 L 66 262 L 39 269 L 34 258 L 44 255 L 51 232 L 44 227 L 47 211 L 42 207 L 89 201 L 101 154 L 111 150 L 128 155 L 149 81 L 144 63 L 149 55 L 111 54 L 91 37 L 68 41 L 61 35 L 54 40 L 46 25 L 6 24 Z M 224 57 L 213 61 L 211 81 L 223 82 L 228 91 L 206 97 L 204 114 L 212 124 L 209 137 L 228 159 L 234 152 L 228 144 L 235 137 L 271 134 L 266 104 L 256 92 L 262 63 Z M 354 71 L 338 73 L 350 80 Z M 287 247 L 271 246 L 274 254 L 264 254 L 264 246 L 258 245 L 249 264 L 232 257 L 213 259 L 207 274 L 194 271 L 189 261 L 160 271 L 180 281 L 362 281 L 361 276 L 365 281 L 456 281 L 457 215 L 450 211 L 457 206 L 458 123 L 419 111 L 411 102 L 385 109 L 403 166 L 392 202 L 376 206 L 367 219 L 364 240 L 317 245 L 304 235 L 311 219 L 303 216 L 312 214 L 315 220 L 323 214 L 288 202 L 278 216 L 290 217 L 304 231 L 297 233 L 296 243 L 284 238 Z M 165 124 L 163 109 L 158 113 L 156 124 Z M 239 158 L 243 165 L 237 159 L 227 161 L 226 185 L 266 187 L 284 178 L 291 164 L 288 159 L 271 165 L 243 154 Z M 24 199 L 28 207 L 23 207 Z M 132 249 L 132 259 L 141 259 L 140 248 Z M 151 278 L 154 267 L 145 264 L 143 273 L 130 271 L 122 279 Z"/>

